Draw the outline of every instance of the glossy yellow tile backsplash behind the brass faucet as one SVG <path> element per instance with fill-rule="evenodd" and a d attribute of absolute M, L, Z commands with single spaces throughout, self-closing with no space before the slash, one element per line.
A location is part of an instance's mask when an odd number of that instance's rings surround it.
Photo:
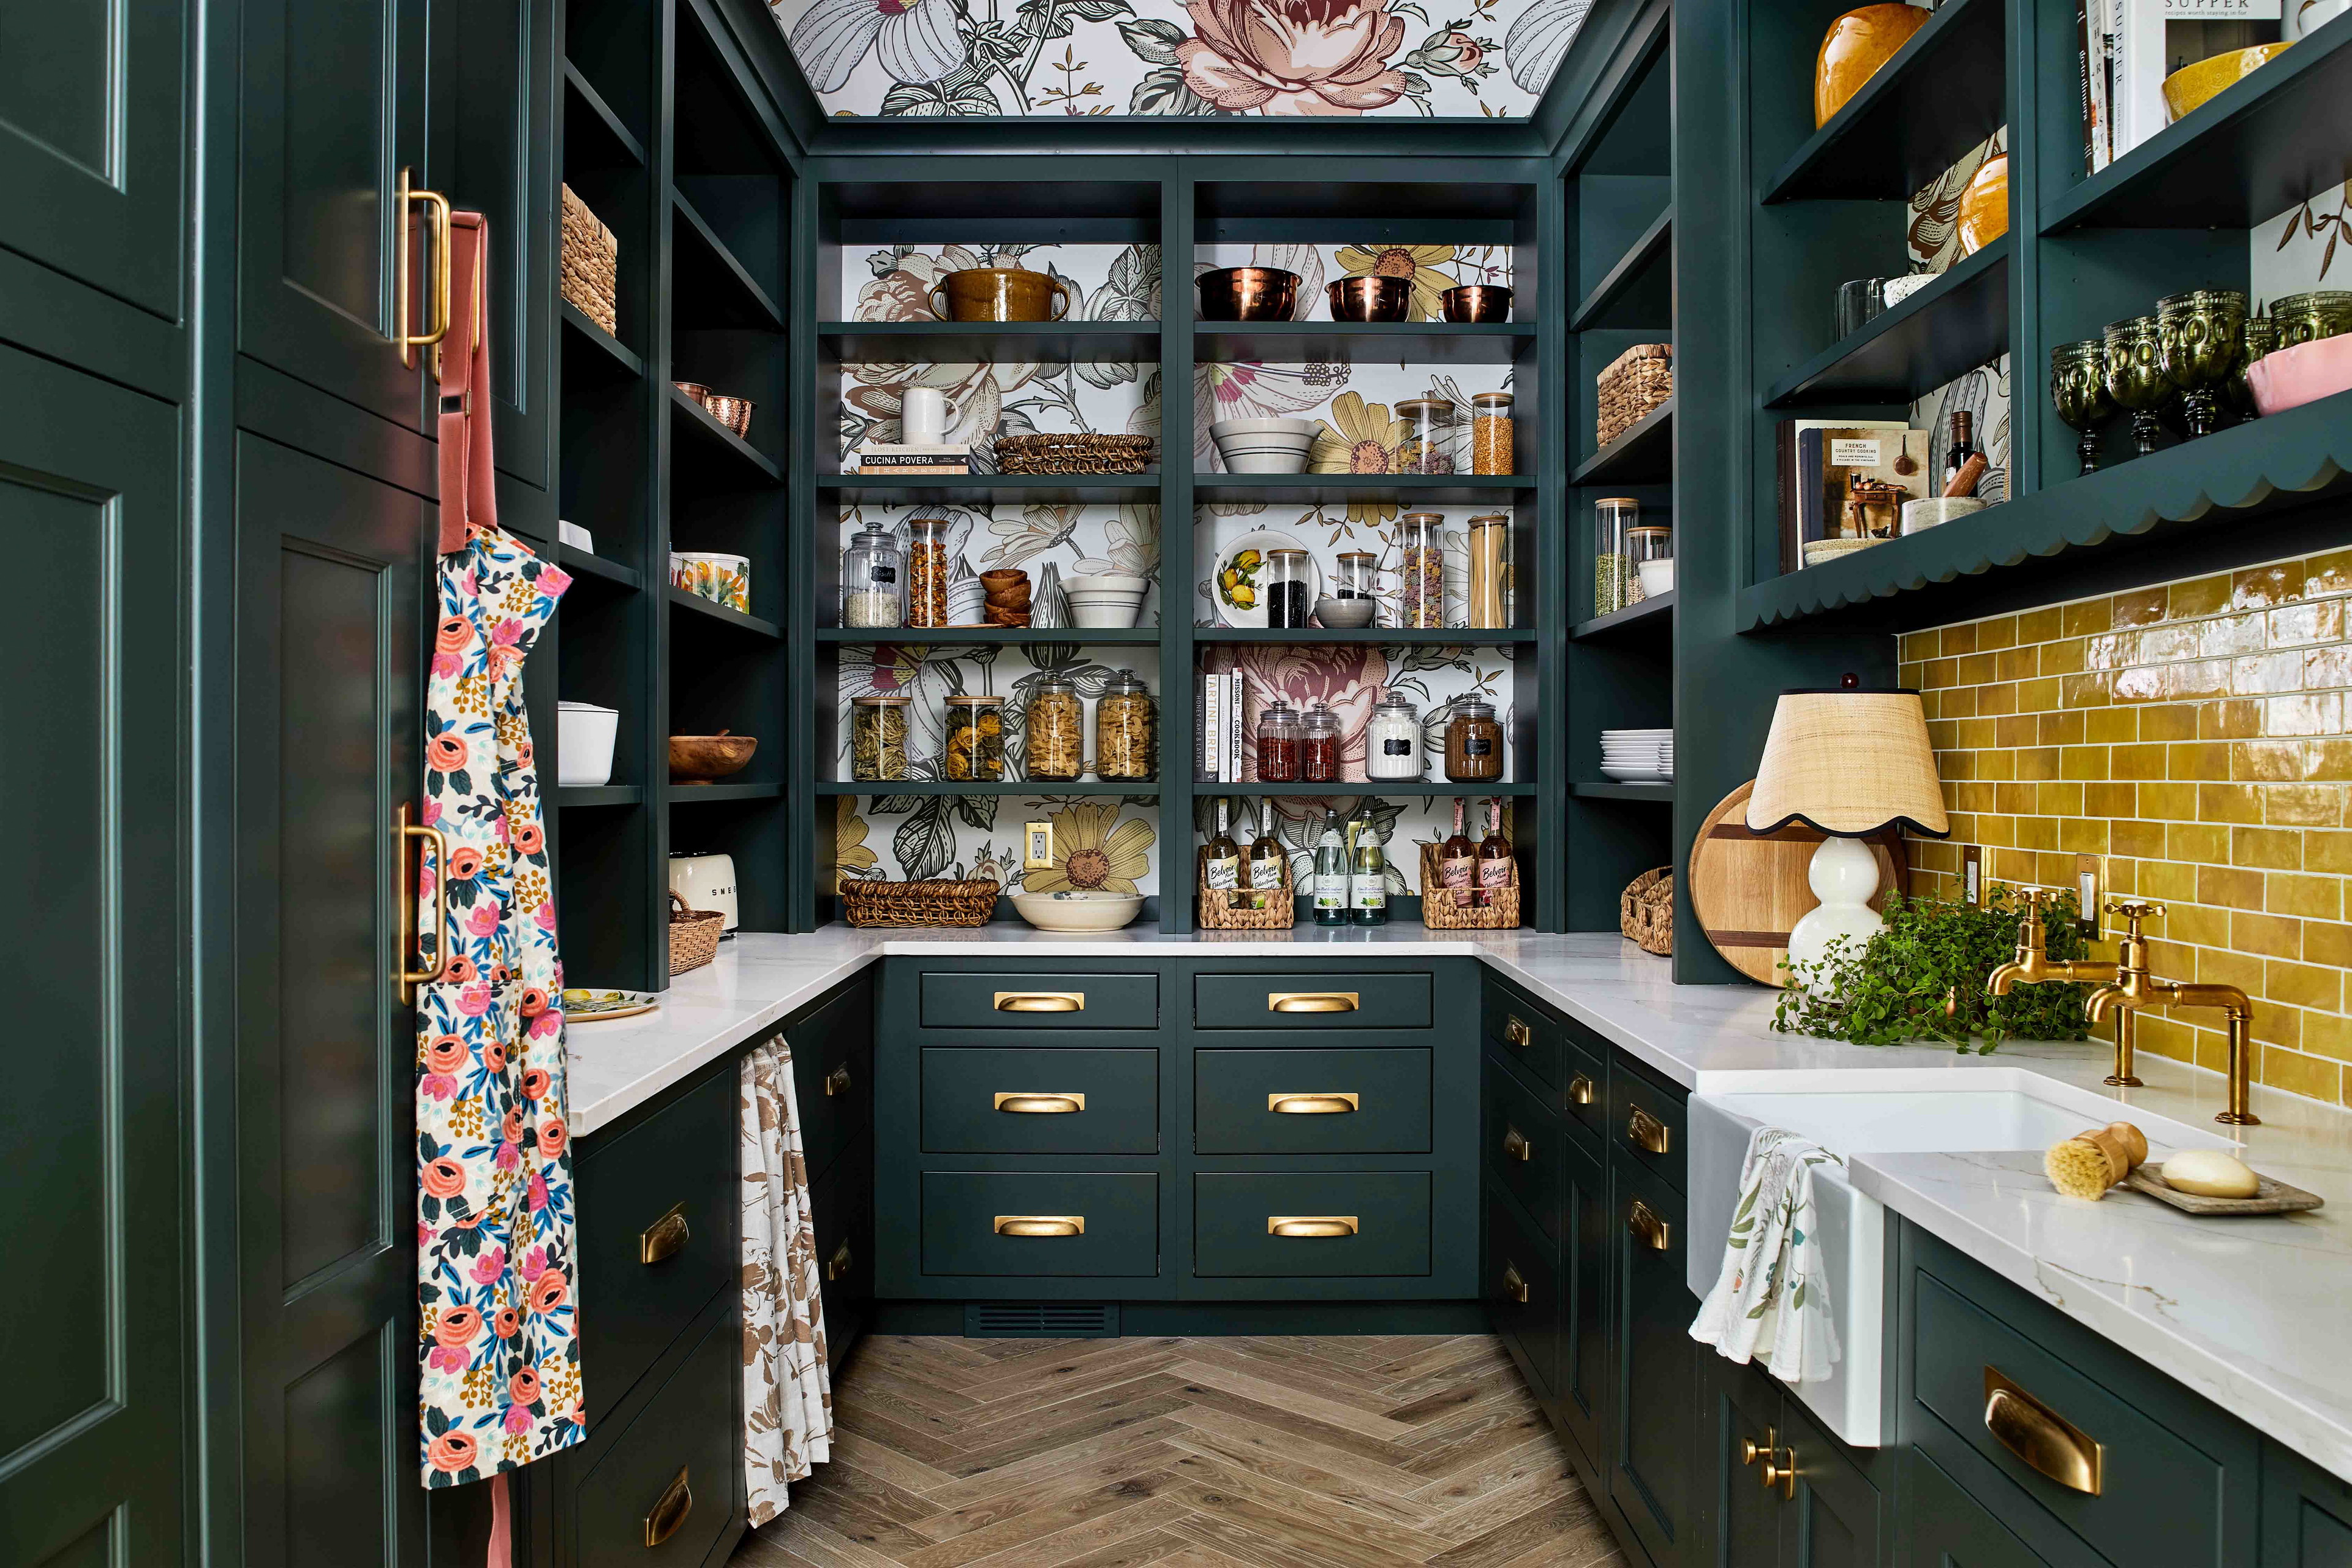
<path fill-rule="evenodd" d="M 1952 839 L 1912 886 L 1955 893 L 1959 846 L 1999 882 L 2154 898 L 2176 980 L 2256 999 L 2256 1079 L 2352 1103 L 2352 550 L 1905 632 Z M 2107 945 L 2112 957 L 2112 943 Z M 2220 1018 L 2145 1016 L 2140 1048 L 2223 1065 Z"/>

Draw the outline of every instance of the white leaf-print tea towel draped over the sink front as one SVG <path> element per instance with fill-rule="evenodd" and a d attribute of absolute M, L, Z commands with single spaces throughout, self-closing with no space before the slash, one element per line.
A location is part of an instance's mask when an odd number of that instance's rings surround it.
<path fill-rule="evenodd" d="M 1764 1361 L 1783 1382 L 1830 1375 L 1839 1347 L 1813 1237 L 1813 1168 L 1844 1164 L 1776 1126 L 1748 1135 L 1724 1267 L 1691 1321 L 1693 1340 L 1731 1361 Z"/>

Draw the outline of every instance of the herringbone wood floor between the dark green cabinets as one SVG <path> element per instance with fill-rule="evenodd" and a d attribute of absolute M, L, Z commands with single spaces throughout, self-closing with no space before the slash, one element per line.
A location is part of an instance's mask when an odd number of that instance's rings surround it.
<path fill-rule="evenodd" d="M 870 1335 L 729 1568 L 1623 1568 L 1486 1335 Z"/>

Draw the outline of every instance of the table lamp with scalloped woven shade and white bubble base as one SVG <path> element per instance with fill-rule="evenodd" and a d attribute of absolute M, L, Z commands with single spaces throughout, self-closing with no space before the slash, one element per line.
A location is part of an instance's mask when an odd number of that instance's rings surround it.
<path fill-rule="evenodd" d="M 1788 961 L 1820 964 L 1835 938 L 1860 957 L 1886 922 L 1870 907 L 1879 863 L 1863 839 L 1903 827 L 1929 839 L 1952 832 L 1936 783 L 1936 748 L 1917 691 L 1863 691 L 1849 675 L 1830 691 L 1783 691 L 1748 795 L 1750 832 L 1804 823 L 1830 835 L 1813 851 L 1806 886 L 1820 903 L 1788 933 Z"/>

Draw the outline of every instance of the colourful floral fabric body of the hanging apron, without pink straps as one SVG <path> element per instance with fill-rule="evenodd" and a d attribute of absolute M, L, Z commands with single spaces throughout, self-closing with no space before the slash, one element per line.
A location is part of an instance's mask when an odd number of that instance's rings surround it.
<path fill-rule="evenodd" d="M 586 1436 L 562 961 L 522 661 L 572 578 L 485 529 L 440 557 L 419 872 L 416 1298 L 426 1486 Z M 449 929 L 433 926 L 435 879 Z M 442 945 L 447 943 L 447 950 Z"/>

